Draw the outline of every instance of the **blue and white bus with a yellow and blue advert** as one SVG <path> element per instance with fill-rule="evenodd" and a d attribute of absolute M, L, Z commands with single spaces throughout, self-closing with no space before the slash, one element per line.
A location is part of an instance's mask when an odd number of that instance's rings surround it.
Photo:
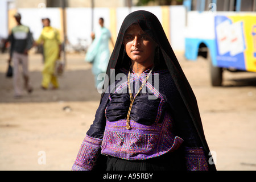
<path fill-rule="evenodd" d="M 209 60 L 213 86 L 221 86 L 224 70 L 256 72 L 255 0 L 184 1 L 184 5 L 188 7 L 185 57 Z"/>

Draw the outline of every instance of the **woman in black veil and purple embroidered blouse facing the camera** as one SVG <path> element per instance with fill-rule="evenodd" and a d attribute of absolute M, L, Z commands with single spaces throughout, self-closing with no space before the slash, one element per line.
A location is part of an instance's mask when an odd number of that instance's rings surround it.
<path fill-rule="evenodd" d="M 148 11 L 123 20 L 100 106 L 72 167 L 97 169 L 216 170 L 196 97 Z"/>

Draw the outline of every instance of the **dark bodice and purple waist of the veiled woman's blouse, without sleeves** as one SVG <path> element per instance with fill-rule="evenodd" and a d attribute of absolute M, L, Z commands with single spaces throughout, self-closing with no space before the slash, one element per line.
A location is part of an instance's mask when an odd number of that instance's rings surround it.
<path fill-rule="evenodd" d="M 141 77 L 131 74 L 130 82 L 134 85 L 134 93 L 137 84 L 144 80 L 143 76 L 146 77 L 148 71 Z M 156 74 L 158 73 L 152 73 L 153 76 Z M 110 103 L 105 110 L 106 127 L 101 154 L 127 160 L 142 160 L 174 151 L 183 143 L 183 139 L 174 135 L 170 114 L 163 113 L 165 101 L 162 94 L 152 85 L 148 81 L 145 85 L 147 93 L 139 94 L 134 101 L 131 109 L 131 130 L 126 128 L 129 94 L 118 94 L 120 90 L 127 89 L 127 81 L 115 89 L 115 93 L 110 94 Z M 148 99 L 150 93 L 154 94 L 155 100 Z"/>

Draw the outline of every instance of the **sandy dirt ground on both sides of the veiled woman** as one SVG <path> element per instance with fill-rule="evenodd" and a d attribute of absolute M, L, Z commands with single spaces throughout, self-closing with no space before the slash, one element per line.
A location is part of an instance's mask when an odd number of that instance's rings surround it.
<path fill-rule="evenodd" d="M 197 97 L 205 136 L 218 170 L 256 169 L 256 73 L 224 73 L 210 86 L 208 63 L 176 53 Z M 13 97 L 0 54 L 0 170 L 70 170 L 92 124 L 100 94 L 84 54 L 68 54 L 59 90 L 42 90 L 42 56 L 30 55 L 34 92 Z"/>

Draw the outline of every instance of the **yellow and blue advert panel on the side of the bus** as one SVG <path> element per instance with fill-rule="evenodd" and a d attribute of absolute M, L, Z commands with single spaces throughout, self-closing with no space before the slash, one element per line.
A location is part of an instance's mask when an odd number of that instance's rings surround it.
<path fill-rule="evenodd" d="M 256 72 L 256 14 L 216 15 L 218 67 Z"/>

